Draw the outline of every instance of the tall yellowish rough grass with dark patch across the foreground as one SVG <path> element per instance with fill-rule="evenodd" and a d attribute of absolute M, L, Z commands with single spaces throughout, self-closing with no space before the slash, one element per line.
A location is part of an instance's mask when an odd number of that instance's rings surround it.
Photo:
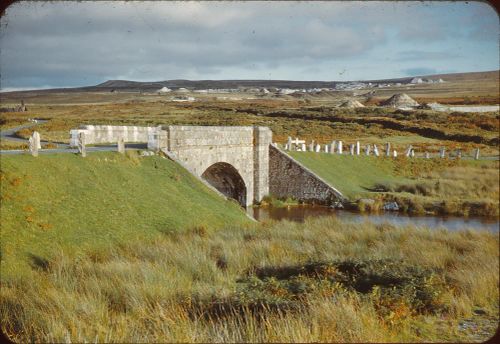
<path fill-rule="evenodd" d="M 18 342 L 482 341 L 498 247 L 335 218 L 166 231 L 2 280 L 0 317 Z"/>

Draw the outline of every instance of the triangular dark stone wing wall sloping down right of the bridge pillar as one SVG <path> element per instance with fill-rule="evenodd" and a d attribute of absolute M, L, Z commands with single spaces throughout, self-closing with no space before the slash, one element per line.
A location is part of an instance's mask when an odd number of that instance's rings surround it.
<path fill-rule="evenodd" d="M 269 146 L 269 193 L 278 198 L 331 204 L 345 199 L 314 172 L 279 148 Z"/>

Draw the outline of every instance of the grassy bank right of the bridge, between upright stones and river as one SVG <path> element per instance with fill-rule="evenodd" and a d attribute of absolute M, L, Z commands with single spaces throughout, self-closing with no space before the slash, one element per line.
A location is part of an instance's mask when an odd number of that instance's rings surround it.
<path fill-rule="evenodd" d="M 413 214 L 498 216 L 498 161 L 289 154 L 350 199 L 376 199 L 371 210 L 396 201 Z"/>

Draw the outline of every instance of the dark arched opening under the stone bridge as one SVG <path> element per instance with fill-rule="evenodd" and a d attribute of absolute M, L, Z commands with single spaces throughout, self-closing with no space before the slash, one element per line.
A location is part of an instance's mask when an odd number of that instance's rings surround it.
<path fill-rule="evenodd" d="M 247 188 L 245 181 L 231 164 L 215 163 L 207 168 L 201 177 L 226 197 L 235 199 L 242 207 L 246 207 Z"/>

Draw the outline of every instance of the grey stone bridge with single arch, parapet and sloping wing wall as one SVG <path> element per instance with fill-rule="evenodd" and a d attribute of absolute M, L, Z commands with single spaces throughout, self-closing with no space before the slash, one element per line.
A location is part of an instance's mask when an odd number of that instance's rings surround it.
<path fill-rule="evenodd" d="M 147 142 L 192 174 L 242 206 L 266 195 L 331 203 L 342 194 L 272 144 L 267 127 L 242 126 L 82 126 L 70 132 L 77 144 L 80 132 L 89 144 Z"/>

